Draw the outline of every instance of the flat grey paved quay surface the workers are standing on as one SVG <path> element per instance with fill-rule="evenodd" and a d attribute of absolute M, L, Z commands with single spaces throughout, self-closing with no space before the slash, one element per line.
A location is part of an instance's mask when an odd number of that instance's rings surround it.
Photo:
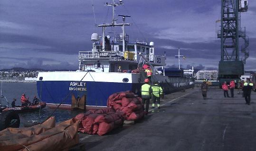
<path fill-rule="evenodd" d="M 203 100 L 199 89 L 166 95 L 161 109 L 134 125 L 104 136 L 79 134 L 70 151 L 255 151 L 256 92 L 247 105 L 237 90 L 224 98 L 210 87 Z"/>

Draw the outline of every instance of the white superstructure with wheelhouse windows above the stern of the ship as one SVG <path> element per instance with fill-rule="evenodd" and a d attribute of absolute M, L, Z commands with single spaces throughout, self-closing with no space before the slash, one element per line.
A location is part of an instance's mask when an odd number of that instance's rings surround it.
<path fill-rule="evenodd" d="M 154 55 L 153 42 L 127 42 L 123 51 L 123 43 L 115 42 L 104 49 L 100 43 L 94 43 L 91 51 L 79 51 L 79 71 L 122 72 L 137 69 L 145 63 L 144 56 L 152 66 L 165 66 L 165 56 Z"/>

